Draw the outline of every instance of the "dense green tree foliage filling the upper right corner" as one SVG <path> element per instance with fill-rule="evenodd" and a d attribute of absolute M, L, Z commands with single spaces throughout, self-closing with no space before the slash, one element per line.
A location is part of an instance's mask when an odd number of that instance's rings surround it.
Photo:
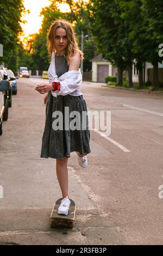
<path fill-rule="evenodd" d="M 144 62 L 161 62 L 158 46 L 163 41 L 162 0 L 92 0 L 89 11 L 98 50 L 113 65 L 128 69 L 136 59 L 142 78 Z"/>

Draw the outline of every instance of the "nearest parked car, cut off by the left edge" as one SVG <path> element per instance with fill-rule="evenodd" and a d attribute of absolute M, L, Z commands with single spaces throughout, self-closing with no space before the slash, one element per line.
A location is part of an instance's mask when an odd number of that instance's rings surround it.
<path fill-rule="evenodd" d="M 8 93 L 10 83 L 8 80 L 3 80 L 0 73 L 0 135 L 2 135 L 3 121 L 8 120 Z"/>

